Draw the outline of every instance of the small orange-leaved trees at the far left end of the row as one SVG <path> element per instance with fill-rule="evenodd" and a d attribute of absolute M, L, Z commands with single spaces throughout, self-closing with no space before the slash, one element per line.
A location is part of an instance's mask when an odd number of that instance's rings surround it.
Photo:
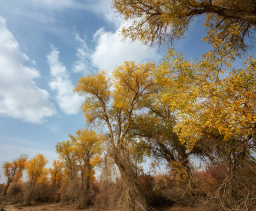
<path fill-rule="evenodd" d="M 48 181 L 47 176 L 51 169 L 45 168 L 47 162 L 45 156 L 41 154 L 29 161 L 27 161 L 27 156 L 21 155 L 11 162 L 5 162 L 2 168 L 7 181 L 6 185 L 1 184 L 1 205 L 7 199 L 14 202 L 22 200 L 26 205 L 30 205 L 31 200 L 34 199 L 35 191 L 41 192 Z M 24 171 L 26 171 L 29 179 L 27 183 L 23 184 L 24 190 L 22 192 L 21 183 L 23 183 Z M 38 195 L 40 194 L 38 193 Z M 4 207 L 4 204 L 2 206 Z"/>

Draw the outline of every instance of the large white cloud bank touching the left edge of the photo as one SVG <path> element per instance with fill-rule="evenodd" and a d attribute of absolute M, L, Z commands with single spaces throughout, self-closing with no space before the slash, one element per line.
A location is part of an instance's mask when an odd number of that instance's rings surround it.
<path fill-rule="evenodd" d="M 31 66 L 34 61 L 21 52 L 1 16 L 0 40 L 0 114 L 41 123 L 56 113 L 54 104 L 49 93 L 36 86 L 39 72 Z"/>

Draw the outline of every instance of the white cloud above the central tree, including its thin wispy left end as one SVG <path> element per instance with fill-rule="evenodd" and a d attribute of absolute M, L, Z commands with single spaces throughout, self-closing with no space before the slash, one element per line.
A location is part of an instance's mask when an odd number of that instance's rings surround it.
<path fill-rule="evenodd" d="M 89 49 L 84 39 L 78 34 L 75 35 L 79 47 L 77 48 L 78 60 L 73 63 L 72 70 L 75 73 L 89 74 L 97 70 L 104 70 L 111 73 L 115 67 L 125 61 L 143 63 L 161 59 L 157 50 L 150 52 L 148 47 L 140 42 L 122 42 L 119 35 L 122 25 L 115 32 L 106 32 L 103 28 L 94 33 L 92 42 L 94 49 Z"/>

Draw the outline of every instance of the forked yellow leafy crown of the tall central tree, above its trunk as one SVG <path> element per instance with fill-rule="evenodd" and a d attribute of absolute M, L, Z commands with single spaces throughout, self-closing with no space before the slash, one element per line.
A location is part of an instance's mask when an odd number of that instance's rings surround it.
<path fill-rule="evenodd" d="M 153 67 L 151 62 L 138 65 L 125 62 L 114 70 L 112 78 L 104 72 L 98 72 L 78 81 L 75 90 L 86 96 L 82 105 L 86 120 L 106 123 L 112 144 L 114 134 L 117 133 L 118 141 L 124 141 L 139 101 L 149 97 L 151 87 L 154 86 L 154 80 L 149 76 Z M 121 132 L 124 132 L 122 138 Z"/>

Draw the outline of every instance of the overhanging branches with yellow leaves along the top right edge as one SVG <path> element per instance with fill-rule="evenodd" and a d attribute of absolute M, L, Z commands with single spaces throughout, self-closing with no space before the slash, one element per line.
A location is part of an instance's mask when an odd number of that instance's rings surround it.
<path fill-rule="evenodd" d="M 129 21 L 122 30 L 125 38 L 143 43 L 170 45 L 182 38 L 195 16 L 205 15 L 210 43 L 215 37 L 232 43 L 241 52 L 247 49 L 256 25 L 254 0 L 113 0 L 113 7 Z"/>

